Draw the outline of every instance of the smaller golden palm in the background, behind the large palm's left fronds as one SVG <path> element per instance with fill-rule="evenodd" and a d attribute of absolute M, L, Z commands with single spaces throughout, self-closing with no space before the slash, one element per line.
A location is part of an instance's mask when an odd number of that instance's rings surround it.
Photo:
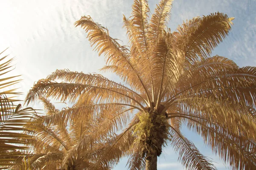
<path fill-rule="evenodd" d="M 97 125 L 104 121 L 105 116 L 98 114 L 95 117 L 91 109 L 85 109 L 79 103 L 60 111 L 49 99 L 42 97 L 40 101 L 46 114 L 34 117 L 34 122 L 25 126 L 26 134 L 34 137 L 29 139 L 33 153 L 14 167 L 19 169 L 26 162 L 33 170 L 80 170 L 95 164 L 104 143 L 95 139 L 92 133 L 99 128 Z M 84 138 L 91 140 L 84 141 Z M 110 168 L 108 164 L 97 166 L 97 170 Z"/>

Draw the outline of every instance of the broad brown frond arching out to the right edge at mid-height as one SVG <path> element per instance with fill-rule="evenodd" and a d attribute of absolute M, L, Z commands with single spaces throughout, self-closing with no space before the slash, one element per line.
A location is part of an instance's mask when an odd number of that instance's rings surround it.
<path fill-rule="evenodd" d="M 217 61 L 219 57 L 214 58 Z M 254 107 L 255 68 L 238 68 L 232 61 L 223 59 L 220 57 L 218 62 L 201 62 L 203 65 L 195 65 L 187 74 L 183 74 L 166 103 L 171 104 L 175 99 L 184 96 L 197 96 L 214 97 Z"/>

